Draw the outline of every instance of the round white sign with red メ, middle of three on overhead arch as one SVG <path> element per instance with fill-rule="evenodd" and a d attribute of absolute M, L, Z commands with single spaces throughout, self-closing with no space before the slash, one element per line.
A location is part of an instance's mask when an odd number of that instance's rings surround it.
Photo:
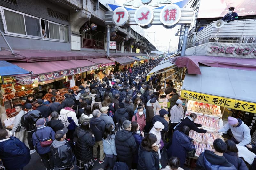
<path fill-rule="evenodd" d="M 154 18 L 154 12 L 148 6 L 141 6 L 134 15 L 135 22 L 140 26 L 149 25 Z"/>

